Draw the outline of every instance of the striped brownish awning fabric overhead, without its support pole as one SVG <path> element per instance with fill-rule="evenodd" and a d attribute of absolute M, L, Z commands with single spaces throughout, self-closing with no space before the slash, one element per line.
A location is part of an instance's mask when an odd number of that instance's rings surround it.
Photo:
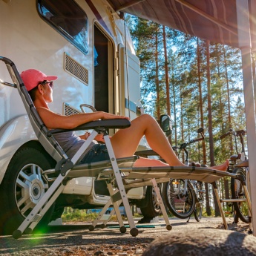
<path fill-rule="evenodd" d="M 108 0 L 114 10 L 130 13 L 211 42 L 239 47 L 236 0 Z M 249 4 L 256 17 L 255 0 Z M 253 8 L 253 6 L 255 8 Z M 256 18 L 251 19 L 256 50 Z"/>

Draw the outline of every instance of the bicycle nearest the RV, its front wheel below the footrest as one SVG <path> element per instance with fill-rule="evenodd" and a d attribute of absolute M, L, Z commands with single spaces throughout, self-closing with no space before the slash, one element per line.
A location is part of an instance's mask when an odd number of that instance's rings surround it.
<path fill-rule="evenodd" d="M 173 146 L 178 157 L 180 151 L 185 152 L 186 165 L 188 165 L 188 150 L 186 147 L 194 142 L 204 140 L 203 128 L 199 128 L 197 133 L 201 135 L 200 138 L 184 142 L 179 147 Z M 168 183 L 163 184 L 163 200 L 165 205 L 174 216 L 181 219 L 188 218 L 189 220 L 191 214 L 194 213 L 195 220 L 200 221 L 203 211 L 203 194 L 203 183 L 196 180 L 170 179 Z"/>

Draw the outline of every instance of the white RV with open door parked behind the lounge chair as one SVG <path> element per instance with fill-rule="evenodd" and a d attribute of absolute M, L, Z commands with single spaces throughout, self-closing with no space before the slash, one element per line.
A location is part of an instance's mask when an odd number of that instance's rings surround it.
<path fill-rule="evenodd" d="M 105 0 L 0 0 L 0 56 L 19 72 L 28 68 L 56 75 L 53 111 L 140 114 L 140 63 L 124 20 Z M 0 64 L 0 234 L 9 234 L 33 209 L 50 184 L 42 169 L 54 161 L 39 144 L 16 88 Z M 114 131 L 112 131 L 113 133 Z M 34 160 L 36 159 L 35 164 Z M 65 206 L 91 209 L 108 196 L 87 177 L 70 180 L 42 223 Z M 147 192 L 146 192 L 147 191 Z M 148 217 L 159 213 L 151 188 L 128 192 Z"/>

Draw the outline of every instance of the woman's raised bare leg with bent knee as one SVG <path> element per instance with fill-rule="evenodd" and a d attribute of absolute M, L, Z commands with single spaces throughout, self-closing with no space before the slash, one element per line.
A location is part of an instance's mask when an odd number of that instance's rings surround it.
<path fill-rule="evenodd" d="M 145 135 L 150 147 L 163 157 L 168 165 L 184 165 L 172 150 L 157 121 L 148 114 L 132 120 L 129 128 L 117 131 L 111 138 L 116 157 L 133 155 L 143 135 Z"/>

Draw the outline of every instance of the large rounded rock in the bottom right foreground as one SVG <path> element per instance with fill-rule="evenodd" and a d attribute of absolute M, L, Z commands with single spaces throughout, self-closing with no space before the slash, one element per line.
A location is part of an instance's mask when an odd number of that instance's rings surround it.
<path fill-rule="evenodd" d="M 142 256 L 251 256 L 256 255 L 256 237 L 221 229 L 171 231 L 148 245 Z"/>

